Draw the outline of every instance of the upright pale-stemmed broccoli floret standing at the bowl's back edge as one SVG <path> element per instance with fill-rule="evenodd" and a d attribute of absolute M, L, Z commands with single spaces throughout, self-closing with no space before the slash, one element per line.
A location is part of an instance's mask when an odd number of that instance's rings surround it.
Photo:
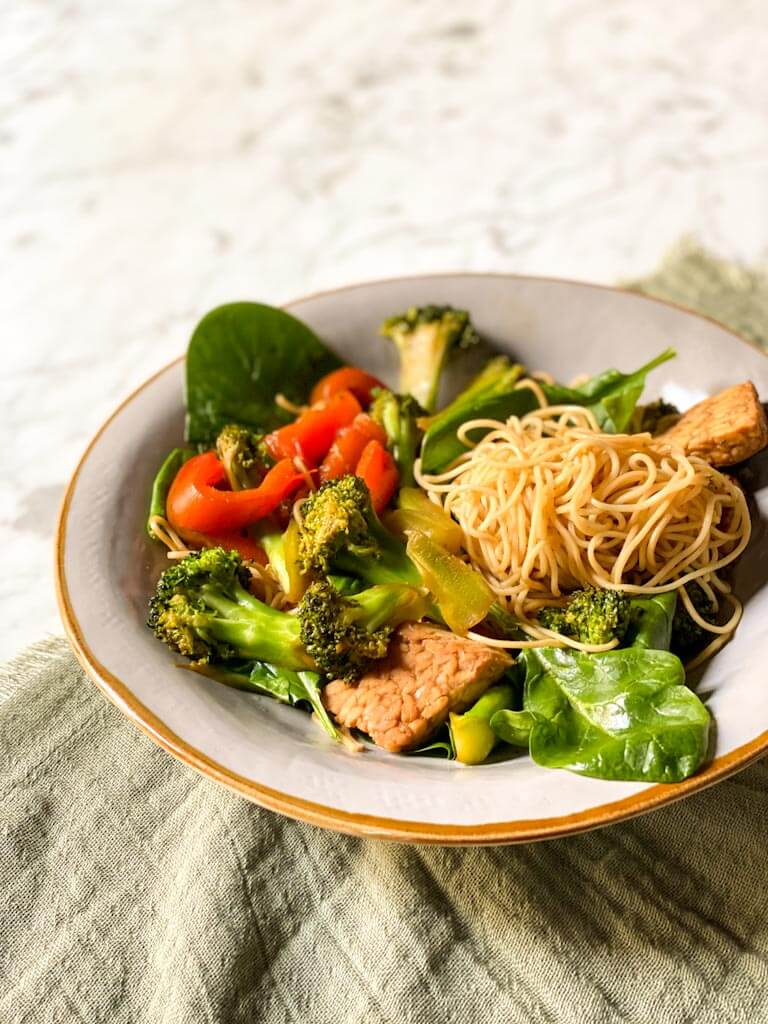
<path fill-rule="evenodd" d="M 399 349 L 400 391 L 412 394 L 428 413 L 434 412 L 449 355 L 478 340 L 469 313 L 451 306 L 412 306 L 384 321 L 379 333 Z"/>

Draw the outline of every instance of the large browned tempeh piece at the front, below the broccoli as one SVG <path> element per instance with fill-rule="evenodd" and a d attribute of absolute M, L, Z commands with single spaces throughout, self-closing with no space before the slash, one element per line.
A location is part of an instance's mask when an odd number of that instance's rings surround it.
<path fill-rule="evenodd" d="M 329 683 L 323 699 L 342 725 L 388 751 L 407 751 L 424 742 L 449 712 L 473 703 L 511 662 L 502 650 L 410 623 L 394 632 L 385 658 L 356 683 Z"/>

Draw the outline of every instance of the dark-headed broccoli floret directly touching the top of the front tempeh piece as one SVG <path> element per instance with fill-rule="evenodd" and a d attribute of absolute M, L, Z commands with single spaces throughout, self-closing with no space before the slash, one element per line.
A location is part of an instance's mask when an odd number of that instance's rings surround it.
<path fill-rule="evenodd" d="M 301 640 L 322 672 L 352 681 L 385 656 L 392 630 L 423 618 L 427 607 L 418 590 L 399 584 L 342 597 L 331 583 L 313 583 L 299 604 Z"/>

